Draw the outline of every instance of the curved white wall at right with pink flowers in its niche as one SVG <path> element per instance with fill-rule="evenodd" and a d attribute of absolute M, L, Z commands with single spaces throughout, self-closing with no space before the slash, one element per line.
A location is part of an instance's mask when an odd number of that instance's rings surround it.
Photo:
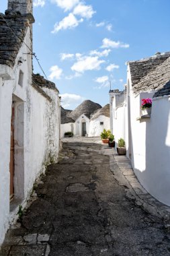
<path fill-rule="evenodd" d="M 130 131 L 126 136 L 127 156 L 144 189 L 170 205 L 170 96 L 153 98 L 151 118 L 136 120 L 142 115 L 142 98 L 152 98 L 155 92 L 141 92 L 135 96 L 130 75 L 128 90 L 126 113 L 130 113 L 130 117 L 126 115 L 126 128 L 129 127 Z"/>

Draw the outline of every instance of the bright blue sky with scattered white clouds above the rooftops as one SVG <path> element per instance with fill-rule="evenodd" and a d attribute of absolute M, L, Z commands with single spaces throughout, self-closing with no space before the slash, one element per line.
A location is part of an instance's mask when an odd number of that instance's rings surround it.
<path fill-rule="evenodd" d="M 169 9 L 169 0 L 34 0 L 34 52 L 62 106 L 108 104 L 110 81 L 124 89 L 126 61 L 170 51 Z M 34 73 L 43 75 L 36 61 Z"/>

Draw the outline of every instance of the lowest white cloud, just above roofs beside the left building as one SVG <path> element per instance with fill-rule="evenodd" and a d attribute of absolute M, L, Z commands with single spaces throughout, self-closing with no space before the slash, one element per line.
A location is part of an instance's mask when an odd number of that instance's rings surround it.
<path fill-rule="evenodd" d="M 60 94 L 60 96 L 63 108 L 71 108 L 71 106 L 79 105 L 85 100 L 84 97 L 77 94 Z"/>

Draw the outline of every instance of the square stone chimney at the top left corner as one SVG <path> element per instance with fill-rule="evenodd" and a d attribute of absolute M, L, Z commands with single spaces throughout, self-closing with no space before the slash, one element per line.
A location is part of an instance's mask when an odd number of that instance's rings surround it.
<path fill-rule="evenodd" d="M 8 0 L 7 9 L 20 11 L 22 14 L 32 13 L 32 0 Z"/>

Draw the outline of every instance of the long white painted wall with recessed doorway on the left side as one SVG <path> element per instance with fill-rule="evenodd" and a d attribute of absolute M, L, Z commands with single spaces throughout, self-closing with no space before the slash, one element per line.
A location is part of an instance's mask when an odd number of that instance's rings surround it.
<path fill-rule="evenodd" d="M 30 28 L 24 42 L 31 47 Z M 59 150 L 60 99 L 44 88 L 50 98 L 32 87 L 32 57 L 22 44 L 13 69 L 0 65 L 0 245 L 18 206 L 26 203 L 36 177 L 55 162 Z M 18 61 L 22 60 L 22 63 Z M 18 84 L 19 71 L 24 73 Z M 14 199 L 9 201 L 11 106 L 14 107 Z"/>

